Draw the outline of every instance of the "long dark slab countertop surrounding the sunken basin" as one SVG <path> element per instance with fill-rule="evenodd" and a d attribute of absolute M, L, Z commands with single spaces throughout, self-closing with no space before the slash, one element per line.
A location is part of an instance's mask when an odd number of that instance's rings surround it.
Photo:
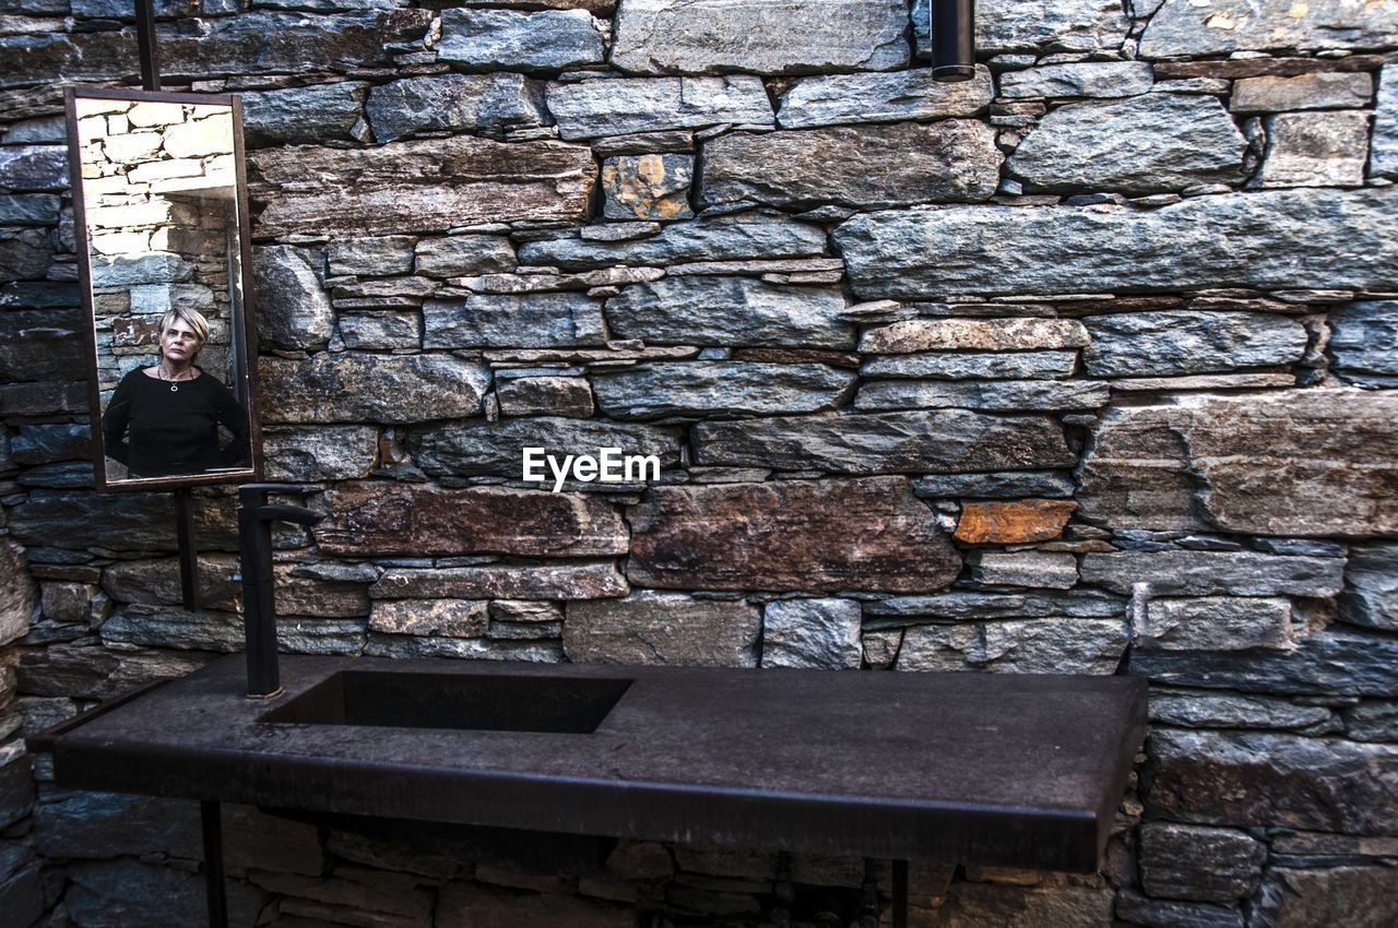
<path fill-rule="evenodd" d="M 1146 700 L 1145 681 L 1127 676 L 287 655 L 281 676 L 285 695 L 246 699 L 231 655 L 41 741 L 70 787 L 1089 872 Z M 366 681 L 358 704 L 344 696 Z M 568 714 L 576 700 L 555 693 L 570 685 L 625 692 L 590 734 L 261 721 L 362 723 L 403 704 L 439 725 L 482 686 L 503 688 L 485 699 L 488 720 Z"/>

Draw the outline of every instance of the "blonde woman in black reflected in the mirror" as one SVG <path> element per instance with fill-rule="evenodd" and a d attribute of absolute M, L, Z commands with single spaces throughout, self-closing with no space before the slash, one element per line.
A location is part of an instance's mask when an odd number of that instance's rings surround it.
<path fill-rule="evenodd" d="M 106 454 L 131 477 L 238 467 L 247 458 L 247 412 L 218 377 L 194 366 L 208 321 L 193 309 L 161 317 L 161 362 L 122 377 L 102 414 Z M 233 440 L 221 446 L 218 426 Z"/>

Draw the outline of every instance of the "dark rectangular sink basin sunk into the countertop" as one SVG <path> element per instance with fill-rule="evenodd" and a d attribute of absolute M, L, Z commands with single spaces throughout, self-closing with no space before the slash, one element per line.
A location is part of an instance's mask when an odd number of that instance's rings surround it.
<path fill-rule="evenodd" d="M 630 683 L 580 676 L 340 671 L 257 721 L 590 735 Z"/>

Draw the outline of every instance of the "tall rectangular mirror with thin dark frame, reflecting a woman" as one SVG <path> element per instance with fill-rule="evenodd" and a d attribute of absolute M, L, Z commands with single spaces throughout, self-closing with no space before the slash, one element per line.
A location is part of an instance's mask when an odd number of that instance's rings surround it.
<path fill-rule="evenodd" d="M 66 98 L 98 488 L 257 479 L 238 99 L 77 88 Z"/>

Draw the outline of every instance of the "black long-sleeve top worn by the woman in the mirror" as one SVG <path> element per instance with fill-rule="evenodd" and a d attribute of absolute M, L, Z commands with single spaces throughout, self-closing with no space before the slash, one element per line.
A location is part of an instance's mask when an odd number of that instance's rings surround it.
<path fill-rule="evenodd" d="M 247 460 L 247 412 L 218 377 L 200 372 L 193 380 L 150 377 L 137 369 L 122 377 L 102 414 L 106 456 L 131 477 L 201 474 Z M 218 426 L 233 440 L 219 447 Z"/>

